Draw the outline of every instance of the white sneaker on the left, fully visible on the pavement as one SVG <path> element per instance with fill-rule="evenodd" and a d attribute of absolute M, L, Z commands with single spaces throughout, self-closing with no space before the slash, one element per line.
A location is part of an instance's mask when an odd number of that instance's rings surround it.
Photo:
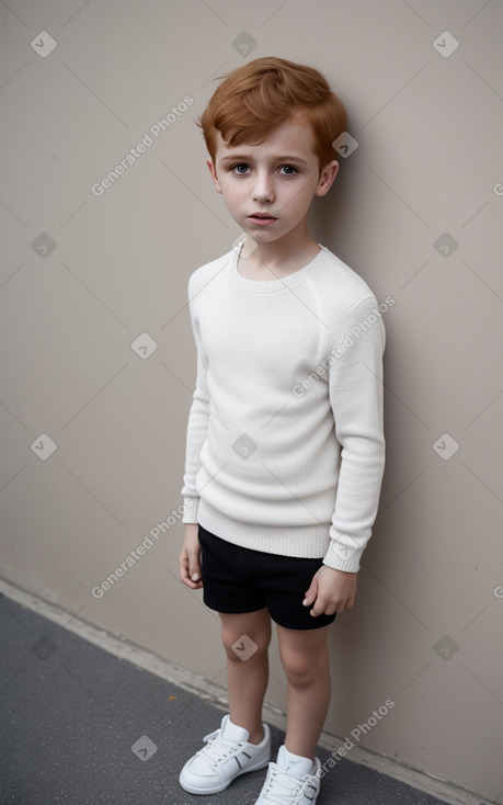
<path fill-rule="evenodd" d="M 190 794 L 217 794 L 240 774 L 265 769 L 271 759 L 271 730 L 262 725 L 260 744 L 249 744 L 248 729 L 224 716 L 220 729 L 203 738 L 206 744 L 183 767 L 179 782 Z"/>

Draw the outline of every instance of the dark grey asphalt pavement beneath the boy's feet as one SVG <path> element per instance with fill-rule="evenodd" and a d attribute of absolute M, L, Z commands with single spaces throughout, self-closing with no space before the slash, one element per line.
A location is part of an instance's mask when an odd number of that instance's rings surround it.
<path fill-rule="evenodd" d="M 1 805 L 255 802 L 265 770 L 207 797 L 187 794 L 178 783 L 202 737 L 220 725 L 222 711 L 214 702 L 2 593 L 0 636 Z M 272 733 L 275 759 L 284 733 L 274 726 Z M 320 747 L 318 756 L 323 763 L 330 752 Z M 318 805 L 443 802 L 346 759 L 329 771 L 318 797 Z"/>

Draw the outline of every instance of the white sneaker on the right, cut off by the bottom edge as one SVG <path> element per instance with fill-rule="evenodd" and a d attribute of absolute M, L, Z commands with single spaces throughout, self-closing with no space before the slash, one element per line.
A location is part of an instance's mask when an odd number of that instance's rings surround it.
<path fill-rule="evenodd" d="M 282 746 L 277 763 L 268 764 L 267 776 L 255 805 L 315 805 L 320 793 L 320 774 L 318 758 L 315 758 L 313 769 L 310 761 L 288 766 L 285 747 Z"/>

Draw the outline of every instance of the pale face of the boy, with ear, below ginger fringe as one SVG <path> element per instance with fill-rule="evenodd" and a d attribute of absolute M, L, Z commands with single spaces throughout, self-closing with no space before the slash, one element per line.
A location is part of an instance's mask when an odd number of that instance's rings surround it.
<path fill-rule="evenodd" d="M 328 193 L 339 169 L 333 160 L 320 174 L 313 143 L 311 126 L 298 116 L 279 123 L 260 145 L 229 148 L 218 133 L 215 165 L 208 159 L 207 166 L 230 215 L 255 241 L 306 231 L 313 196 Z"/>

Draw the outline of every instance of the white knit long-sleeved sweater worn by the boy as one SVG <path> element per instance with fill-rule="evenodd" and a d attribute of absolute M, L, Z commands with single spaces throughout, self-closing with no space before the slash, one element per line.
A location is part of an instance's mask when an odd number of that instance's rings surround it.
<path fill-rule="evenodd" d="M 273 281 L 239 273 L 240 246 L 188 280 L 197 381 L 183 522 L 356 571 L 385 465 L 387 305 L 323 246 Z"/>

